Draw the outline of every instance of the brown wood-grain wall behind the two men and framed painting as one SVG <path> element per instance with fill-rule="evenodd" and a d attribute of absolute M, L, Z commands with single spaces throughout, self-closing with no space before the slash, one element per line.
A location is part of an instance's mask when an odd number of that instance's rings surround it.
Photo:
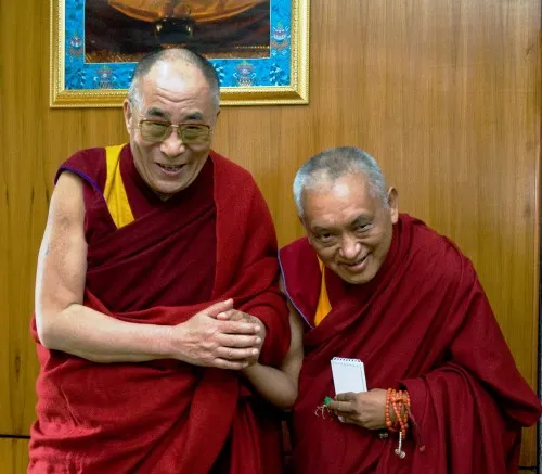
<path fill-rule="evenodd" d="M 312 0 L 310 105 L 224 108 L 215 149 L 250 169 L 282 244 L 289 184 L 322 149 L 376 156 L 402 210 L 477 268 L 520 371 L 537 384 L 541 0 Z M 0 435 L 28 434 L 36 256 L 57 165 L 126 140 L 120 110 L 50 110 L 49 5 L 0 0 Z M 0 438 L 0 471 L 24 472 Z M 521 457 L 535 465 L 534 430 Z M 17 467 L 18 466 L 18 467 Z"/>

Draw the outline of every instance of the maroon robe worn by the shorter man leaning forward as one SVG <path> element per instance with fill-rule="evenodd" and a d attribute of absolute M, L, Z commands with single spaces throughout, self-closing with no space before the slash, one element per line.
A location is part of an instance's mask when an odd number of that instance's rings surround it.
<path fill-rule="evenodd" d="M 516 369 L 470 261 L 448 239 L 401 215 L 386 260 L 364 285 L 325 270 L 332 311 L 314 328 L 321 272 L 307 239 L 281 249 L 289 299 L 304 316 L 305 361 L 294 408 L 295 472 L 517 472 L 520 428 L 541 407 Z M 406 388 L 405 459 L 397 435 L 323 420 L 334 396 L 330 360 L 359 358 L 369 389 Z"/>

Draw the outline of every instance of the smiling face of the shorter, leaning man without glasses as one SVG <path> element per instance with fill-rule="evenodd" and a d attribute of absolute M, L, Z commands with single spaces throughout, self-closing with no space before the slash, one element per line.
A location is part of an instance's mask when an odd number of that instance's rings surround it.
<path fill-rule="evenodd" d="M 370 193 L 363 174 L 347 174 L 302 194 L 307 235 L 322 262 L 352 284 L 371 281 L 380 269 L 397 222 L 397 191 L 389 207 Z"/>

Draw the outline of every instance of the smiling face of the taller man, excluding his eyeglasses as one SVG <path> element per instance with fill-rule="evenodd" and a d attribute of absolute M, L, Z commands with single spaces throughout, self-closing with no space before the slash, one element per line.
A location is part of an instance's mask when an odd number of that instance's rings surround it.
<path fill-rule="evenodd" d="M 188 188 L 205 165 L 218 111 L 204 75 L 186 62 L 158 62 L 141 79 L 139 92 L 141 103 L 128 99 L 124 103 L 133 162 L 149 187 L 167 200 Z M 143 118 L 206 124 L 211 133 L 204 143 L 188 145 L 173 128 L 164 141 L 154 143 L 141 136 L 138 124 Z"/>

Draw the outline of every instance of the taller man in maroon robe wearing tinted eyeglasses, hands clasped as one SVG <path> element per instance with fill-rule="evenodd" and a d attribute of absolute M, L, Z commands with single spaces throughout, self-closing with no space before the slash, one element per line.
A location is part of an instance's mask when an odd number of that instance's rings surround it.
<path fill-rule="evenodd" d="M 281 471 L 276 417 L 244 375 L 288 349 L 275 234 L 251 176 L 210 151 L 218 113 L 206 60 L 153 53 L 124 104 L 130 143 L 60 167 L 30 473 Z"/>

